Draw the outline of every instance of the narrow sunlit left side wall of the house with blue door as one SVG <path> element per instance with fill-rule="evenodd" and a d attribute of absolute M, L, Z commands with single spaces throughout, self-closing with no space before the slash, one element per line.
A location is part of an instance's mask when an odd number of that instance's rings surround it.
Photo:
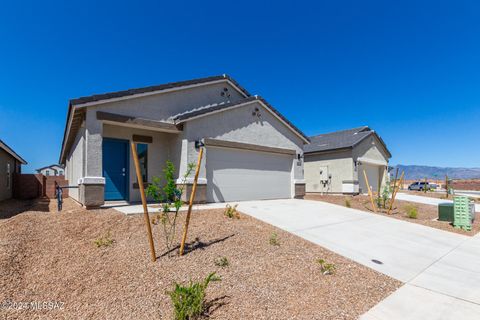
<path fill-rule="evenodd" d="M 84 177 L 85 172 L 85 124 L 75 137 L 75 141 L 70 150 L 70 154 L 67 156 L 65 165 L 65 179 L 68 180 L 70 186 L 78 186 L 78 179 Z M 73 199 L 80 201 L 79 191 L 77 188 L 71 188 L 68 190 L 69 196 Z"/>

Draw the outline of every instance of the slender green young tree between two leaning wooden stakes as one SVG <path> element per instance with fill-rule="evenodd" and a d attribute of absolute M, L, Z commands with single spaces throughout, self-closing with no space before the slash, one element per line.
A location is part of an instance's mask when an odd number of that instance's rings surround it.
<path fill-rule="evenodd" d="M 182 183 L 177 187 L 175 179 L 175 166 L 169 160 L 163 169 L 163 180 L 159 177 L 153 177 L 152 183 L 146 189 L 147 195 L 155 201 L 162 203 L 162 212 L 157 214 L 153 219 L 153 224 L 161 224 L 163 227 L 163 236 L 165 245 L 168 250 L 173 246 L 175 234 L 177 230 L 178 212 L 182 207 L 182 194 L 188 176 L 195 168 L 194 163 L 189 163 L 185 172 Z"/>

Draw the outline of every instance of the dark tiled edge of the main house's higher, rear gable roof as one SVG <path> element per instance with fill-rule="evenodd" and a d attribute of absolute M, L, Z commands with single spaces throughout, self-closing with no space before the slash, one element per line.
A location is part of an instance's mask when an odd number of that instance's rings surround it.
<path fill-rule="evenodd" d="M 214 82 L 214 81 L 220 81 L 220 80 L 230 81 L 246 97 L 250 96 L 250 93 L 248 93 L 248 91 L 245 88 L 243 88 L 241 85 L 239 85 L 235 80 L 233 80 L 228 75 L 223 74 L 223 75 L 220 75 L 220 76 L 198 78 L 198 79 L 186 80 L 186 81 L 170 82 L 170 83 L 165 83 L 165 84 L 155 85 L 155 86 L 148 86 L 148 87 L 143 87 L 143 88 L 135 88 L 135 89 L 116 91 L 116 92 L 95 94 L 95 95 L 92 95 L 92 96 L 72 99 L 72 100 L 70 100 L 70 104 L 71 105 L 80 105 L 80 104 L 85 104 L 85 103 L 90 103 L 90 102 L 109 100 L 109 99 L 121 98 L 121 97 L 126 97 L 126 96 L 133 96 L 133 95 L 143 94 L 143 93 L 148 93 L 148 92 L 164 91 L 164 90 L 167 90 L 167 89 L 191 86 L 191 85 L 195 85 L 195 84 L 208 83 L 208 82 Z"/>

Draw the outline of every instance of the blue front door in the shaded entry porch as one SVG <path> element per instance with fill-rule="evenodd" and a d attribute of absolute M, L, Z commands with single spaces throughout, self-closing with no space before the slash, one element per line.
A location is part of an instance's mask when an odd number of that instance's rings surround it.
<path fill-rule="evenodd" d="M 128 200 L 128 140 L 103 139 L 105 200 Z"/>

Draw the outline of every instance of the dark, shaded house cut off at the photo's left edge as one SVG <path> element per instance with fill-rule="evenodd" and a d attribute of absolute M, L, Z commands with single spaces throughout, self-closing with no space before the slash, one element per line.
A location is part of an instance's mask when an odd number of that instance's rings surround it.
<path fill-rule="evenodd" d="M 27 162 L 0 140 L 0 201 L 13 197 L 13 174 L 22 172 L 22 164 Z"/>

